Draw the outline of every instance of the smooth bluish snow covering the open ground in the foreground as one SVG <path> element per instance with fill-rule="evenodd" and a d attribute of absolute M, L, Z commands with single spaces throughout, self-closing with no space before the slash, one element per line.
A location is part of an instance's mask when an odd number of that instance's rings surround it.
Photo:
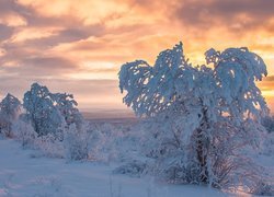
<path fill-rule="evenodd" d="M 182 197 L 231 196 L 202 186 L 168 185 L 149 177 L 113 174 L 114 164 L 34 157 L 0 139 L 0 196 Z"/>

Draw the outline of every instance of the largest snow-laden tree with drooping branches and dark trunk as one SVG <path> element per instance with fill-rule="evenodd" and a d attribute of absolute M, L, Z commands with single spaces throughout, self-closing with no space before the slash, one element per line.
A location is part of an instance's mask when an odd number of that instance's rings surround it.
<path fill-rule="evenodd" d="M 239 153 L 247 144 L 256 146 L 264 130 L 260 120 L 269 108 L 255 80 L 266 76 L 266 66 L 248 48 L 205 55 L 213 68 L 193 67 L 182 43 L 160 53 L 153 67 L 127 62 L 119 88 L 127 91 L 124 103 L 151 120 L 155 143 L 149 144 L 157 144 L 160 173 L 170 181 L 224 187 L 248 176 Z"/>

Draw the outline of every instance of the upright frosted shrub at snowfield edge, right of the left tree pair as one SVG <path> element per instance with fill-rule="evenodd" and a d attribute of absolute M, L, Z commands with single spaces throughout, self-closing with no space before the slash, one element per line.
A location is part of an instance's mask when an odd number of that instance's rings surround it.
<path fill-rule="evenodd" d="M 90 134 L 85 127 L 77 129 L 76 125 L 69 126 L 65 131 L 65 149 L 68 160 L 87 160 L 89 158 Z"/>

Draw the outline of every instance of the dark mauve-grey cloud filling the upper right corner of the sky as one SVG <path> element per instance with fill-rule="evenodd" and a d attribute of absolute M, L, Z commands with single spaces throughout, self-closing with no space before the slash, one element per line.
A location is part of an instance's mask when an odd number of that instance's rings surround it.
<path fill-rule="evenodd" d="M 179 1 L 174 16 L 183 24 L 205 28 L 221 25 L 244 31 L 267 24 L 274 18 L 273 10 L 272 0 L 186 0 Z"/>

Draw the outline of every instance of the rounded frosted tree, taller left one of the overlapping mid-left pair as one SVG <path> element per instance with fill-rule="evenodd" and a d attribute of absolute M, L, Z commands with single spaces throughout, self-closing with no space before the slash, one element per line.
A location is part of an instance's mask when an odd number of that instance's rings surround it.
<path fill-rule="evenodd" d="M 62 116 L 46 86 L 33 83 L 31 90 L 24 94 L 23 101 L 26 109 L 25 117 L 38 136 L 58 132 Z"/>

